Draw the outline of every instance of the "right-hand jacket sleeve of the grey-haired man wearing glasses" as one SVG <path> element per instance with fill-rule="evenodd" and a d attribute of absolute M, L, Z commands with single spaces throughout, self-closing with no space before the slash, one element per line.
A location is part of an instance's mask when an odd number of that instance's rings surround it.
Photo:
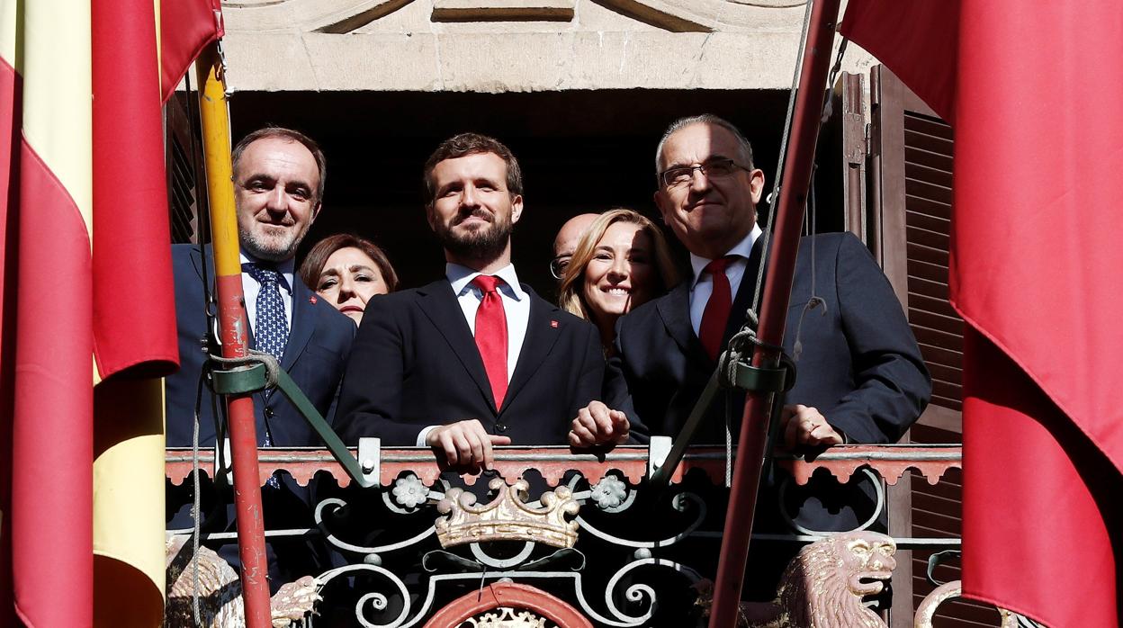
<path fill-rule="evenodd" d="M 823 415 L 851 442 L 895 443 L 932 393 L 920 347 L 888 280 L 849 234 L 838 249 L 834 281 L 855 390 Z"/>

